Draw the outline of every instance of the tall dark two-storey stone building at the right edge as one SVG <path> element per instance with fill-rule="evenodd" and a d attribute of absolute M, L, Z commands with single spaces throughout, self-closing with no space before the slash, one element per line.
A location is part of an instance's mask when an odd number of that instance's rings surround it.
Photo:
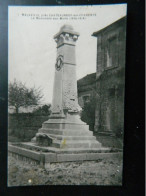
<path fill-rule="evenodd" d="M 97 37 L 96 111 L 94 131 L 122 135 L 124 130 L 124 88 L 126 17 L 93 33 Z"/>

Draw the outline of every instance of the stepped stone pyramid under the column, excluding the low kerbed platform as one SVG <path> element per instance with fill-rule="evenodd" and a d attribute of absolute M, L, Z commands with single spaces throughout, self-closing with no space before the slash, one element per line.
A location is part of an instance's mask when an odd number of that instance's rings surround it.
<path fill-rule="evenodd" d="M 44 122 L 32 142 L 58 149 L 101 148 L 101 143 L 89 131 L 89 126 L 75 113 L 67 113 L 65 118 L 53 117 Z"/>

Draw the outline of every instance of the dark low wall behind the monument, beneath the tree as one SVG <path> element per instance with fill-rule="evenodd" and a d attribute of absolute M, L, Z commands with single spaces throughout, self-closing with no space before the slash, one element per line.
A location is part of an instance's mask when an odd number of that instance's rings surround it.
<path fill-rule="evenodd" d="M 19 141 L 30 141 L 42 123 L 48 120 L 48 115 L 36 115 L 33 113 L 9 114 L 8 117 L 8 140 L 16 137 Z"/>

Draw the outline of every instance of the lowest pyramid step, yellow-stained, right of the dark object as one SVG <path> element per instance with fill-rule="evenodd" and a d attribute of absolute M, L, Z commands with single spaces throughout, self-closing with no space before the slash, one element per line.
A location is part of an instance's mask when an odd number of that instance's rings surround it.
<path fill-rule="evenodd" d="M 100 148 L 101 147 L 101 143 L 99 143 L 98 141 L 92 141 L 92 140 L 78 140 L 78 141 L 58 141 L 58 140 L 54 140 L 52 143 L 52 147 L 56 147 L 56 148 Z"/>

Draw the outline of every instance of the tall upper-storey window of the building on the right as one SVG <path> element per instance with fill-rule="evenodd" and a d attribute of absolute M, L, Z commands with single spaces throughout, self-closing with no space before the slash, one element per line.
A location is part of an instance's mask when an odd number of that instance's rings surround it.
<path fill-rule="evenodd" d="M 110 38 L 107 46 L 107 67 L 117 66 L 117 52 L 117 39 Z"/>

